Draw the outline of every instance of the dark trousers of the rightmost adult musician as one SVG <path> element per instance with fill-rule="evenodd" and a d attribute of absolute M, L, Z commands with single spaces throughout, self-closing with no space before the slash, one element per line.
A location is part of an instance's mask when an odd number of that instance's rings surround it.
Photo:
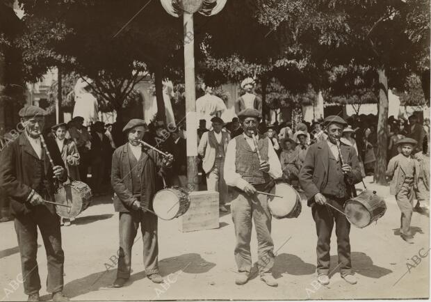
<path fill-rule="evenodd" d="M 327 202 L 343 212 L 345 200 L 327 198 Z M 317 231 L 317 273 L 330 273 L 330 243 L 332 228 L 335 222 L 336 243 L 339 255 L 339 268 L 341 275 L 352 273 L 352 261 L 350 260 L 350 223 L 345 216 L 326 205 L 315 204 L 311 207 Z"/>

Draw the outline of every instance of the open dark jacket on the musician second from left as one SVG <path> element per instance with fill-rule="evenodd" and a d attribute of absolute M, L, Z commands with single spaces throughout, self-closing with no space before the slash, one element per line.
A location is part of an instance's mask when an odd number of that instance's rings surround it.
<path fill-rule="evenodd" d="M 112 157 L 111 184 L 115 192 L 115 212 L 130 212 L 133 197 L 128 143 L 115 149 Z M 152 209 L 152 200 L 157 191 L 163 189 L 162 176 L 170 169 L 162 166 L 162 159 L 154 150 L 143 149 L 143 171 L 141 177 L 141 206 Z"/>

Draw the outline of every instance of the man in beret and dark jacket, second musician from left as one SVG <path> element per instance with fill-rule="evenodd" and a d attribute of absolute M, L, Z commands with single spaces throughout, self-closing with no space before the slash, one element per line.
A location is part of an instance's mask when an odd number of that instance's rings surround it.
<path fill-rule="evenodd" d="M 145 273 L 154 283 L 162 283 L 158 273 L 157 216 L 152 210 L 154 194 L 163 189 L 162 177 L 172 164 L 169 155 L 161 159 L 154 150 L 140 145 L 147 125 L 144 120 L 130 120 L 123 132 L 128 142 L 117 148 L 112 158 L 111 184 L 115 192 L 115 212 L 120 212 L 120 249 L 114 287 L 122 287 L 130 278 L 131 248 L 139 228 L 143 237 Z"/>

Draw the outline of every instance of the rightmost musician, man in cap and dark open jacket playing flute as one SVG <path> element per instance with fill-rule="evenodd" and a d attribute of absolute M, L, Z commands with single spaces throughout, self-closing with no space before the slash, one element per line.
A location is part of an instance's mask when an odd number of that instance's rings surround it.
<path fill-rule="evenodd" d="M 330 283 L 330 241 L 334 228 L 338 245 L 341 277 L 350 284 L 357 283 L 352 274 L 350 259 L 350 223 L 347 218 L 327 204 L 343 211 L 343 205 L 355 191 L 354 184 L 361 182 L 361 170 L 355 148 L 340 142 L 347 125 L 339 116 L 328 116 L 327 141 L 311 145 L 300 171 L 300 184 L 311 207 L 317 231 L 318 282 Z"/>

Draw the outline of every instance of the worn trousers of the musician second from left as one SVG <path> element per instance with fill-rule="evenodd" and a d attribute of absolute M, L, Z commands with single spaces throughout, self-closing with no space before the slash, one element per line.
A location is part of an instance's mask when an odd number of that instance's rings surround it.
<path fill-rule="evenodd" d="M 144 243 L 144 265 L 147 276 L 158 273 L 157 216 L 149 212 L 120 212 L 120 253 L 117 278 L 128 279 L 131 270 L 131 248 L 140 223 Z"/>

